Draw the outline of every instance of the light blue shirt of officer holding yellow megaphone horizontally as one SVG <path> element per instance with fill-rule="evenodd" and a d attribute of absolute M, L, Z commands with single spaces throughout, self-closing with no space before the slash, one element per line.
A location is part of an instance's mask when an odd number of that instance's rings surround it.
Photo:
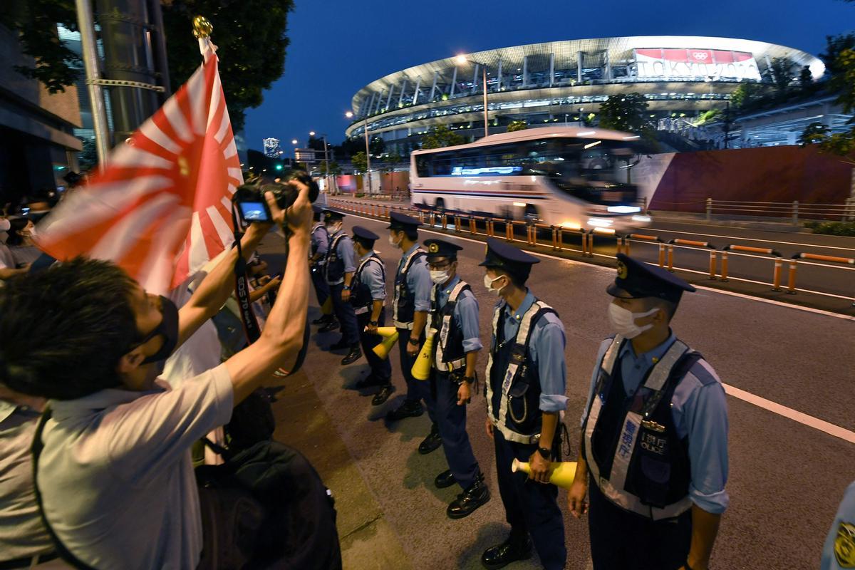
<path fill-rule="evenodd" d="M 516 337 L 522 315 L 534 304 L 534 295 L 528 291 L 516 312 L 505 304 L 500 321 L 504 326 L 504 338 Z M 520 338 L 525 342 L 525 338 Z M 496 338 L 492 342 L 495 344 Z M 564 326 L 555 314 L 547 313 L 534 323 L 528 350 L 540 376 L 540 409 L 544 412 L 560 412 L 567 409 L 567 365 L 564 362 Z"/>

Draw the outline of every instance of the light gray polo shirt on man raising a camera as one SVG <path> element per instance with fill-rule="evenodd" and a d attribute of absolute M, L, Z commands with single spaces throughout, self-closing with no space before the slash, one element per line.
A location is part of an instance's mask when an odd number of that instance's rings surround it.
<path fill-rule="evenodd" d="M 225 364 L 179 388 L 103 390 L 51 401 L 38 461 L 44 511 L 62 543 L 102 569 L 195 568 L 202 520 L 191 446 L 232 416 Z"/>

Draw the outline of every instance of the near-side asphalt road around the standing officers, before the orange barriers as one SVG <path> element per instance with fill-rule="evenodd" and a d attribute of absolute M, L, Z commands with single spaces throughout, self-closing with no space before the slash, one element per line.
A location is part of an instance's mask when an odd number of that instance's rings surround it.
<path fill-rule="evenodd" d="M 347 215 L 345 229 L 350 231 L 354 224 L 381 236 L 377 249 L 391 273 L 399 252 L 386 244 L 386 223 Z M 422 238 L 429 233 L 422 231 Z M 483 268 L 477 267 L 484 245 L 469 238 L 451 239 L 463 246 L 459 273 L 473 285 L 481 304 L 481 337 L 486 341 L 495 297 L 481 285 Z M 542 256 L 529 280 L 534 293 L 557 309 L 567 329 L 566 420 L 574 455 L 594 357 L 600 340 L 609 334 L 605 315 L 610 298 L 604 287 L 613 278 L 614 271 L 607 267 Z M 698 282 L 703 284 L 703 279 Z M 310 298 L 315 303 L 314 294 Z M 316 307 L 310 318 L 315 314 Z M 817 567 L 837 503 L 855 479 L 853 326 L 855 321 L 844 315 L 711 289 L 684 297 L 675 332 L 705 355 L 728 389 L 731 504 L 722 520 L 713 568 Z M 433 487 L 433 478 L 446 468 L 445 459 L 439 450 L 430 455 L 416 450 L 429 430 L 427 414 L 393 425 L 382 419 L 403 398 L 397 357 L 392 356 L 392 369 L 398 391 L 388 403 L 373 408 L 369 397 L 352 389 L 367 373 L 365 361 L 340 367 L 340 353 L 321 350 L 336 340 L 335 333 L 313 335 L 305 373 L 362 476 L 359 485 L 364 482 L 373 492 L 412 567 L 480 567 L 481 552 L 501 542 L 507 532 L 492 443 L 483 429 L 483 398 L 473 398 L 469 408 L 469 434 L 493 498 L 468 518 L 449 520 L 445 505 L 457 491 Z M 485 363 L 482 355 L 479 366 Z M 559 504 L 565 512 L 568 568 L 586 568 L 587 522 L 566 515 L 564 491 Z M 339 511 L 343 508 L 346 505 Z M 374 567 L 383 565 L 377 562 Z M 536 557 L 509 568 L 534 567 Z"/>

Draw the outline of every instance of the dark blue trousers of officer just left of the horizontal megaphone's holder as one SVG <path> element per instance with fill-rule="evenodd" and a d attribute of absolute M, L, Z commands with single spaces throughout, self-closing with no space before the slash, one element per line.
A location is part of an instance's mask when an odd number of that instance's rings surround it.
<path fill-rule="evenodd" d="M 457 483 L 467 490 L 475 483 L 478 475 L 478 461 L 472 453 L 469 444 L 469 433 L 466 432 L 466 406 L 457 405 L 457 382 L 449 379 L 448 373 L 433 370 L 433 388 L 436 392 L 436 425 L 442 436 L 442 450 L 445 451 L 445 461 Z"/>

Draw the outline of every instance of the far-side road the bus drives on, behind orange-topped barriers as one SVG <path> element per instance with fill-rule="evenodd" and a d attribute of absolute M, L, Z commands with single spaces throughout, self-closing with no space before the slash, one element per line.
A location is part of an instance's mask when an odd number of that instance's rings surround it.
<path fill-rule="evenodd" d="M 351 197 L 330 198 L 333 206 L 352 203 L 368 203 L 364 200 L 354 200 Z M 373 202 L 378 204 L 377 202 Z M 408 203 L 380 203 L 396 208 L 408 208 Z M 449 219 L 449 228 L 453 223 Z M 744 222 L 741 222 L 744 224 Z M 439 227 L 439 220 L 435 225 Z M 463 233 L 469 232 L 469 225 L 464 221 Z M 727 245 L 768 248 L 780 254 L 784 260 L 781 267 L 781 290 L 771 291 L 775 256 L 760 255 L 740 251 L 728 253 L 728 282 L 721 279 L 705 279 L 705 285 L 735 291 L 742 294 L 777 299 L 783 303 L 798 303 L 817 309 L 830 310 L 843 314 L 855 315 L 855 266 L 823 261 L 799 261 L 795 294 L 787 293 L 788 261 L 795 254 L 810 253 L 823 256 L 855 258 L 855 238 L 841 236 L 826 236 L 804 232 L 775 231 L 764 229 L 780 226 L 781 230 L 789 230 L 788 226 L 773 223 L 758 223 L 755 227 L 728 226 L 724 222 L 704 223 L 701 220 L 671 220 L 657 219 L 651 226 L 639 230 L 639 233 L 656 236 L 663 242 L 671 239 L 689 239 L 707 242 L 716 250 L 722 250 Z M 504 237 L 504 224 L 495 224 L 496 232 Z M 453 231 L 453 230 L 452 230 Z M 478 226 L 478 232 L 484 234 L 486 228 Z M 523 244 L 526 235 L 522 226 L 516 227 L 516 239 Z M 481 235 L 483 238 L 483 235 Z M 551 232 L 539 232 L 540 249 L 551 250 Z M 581 235 L 576 232 L 563 233 L 562 256 L 570 259 L 586 259 L 593 263 L 610 264 L 616 252 L 614 236 L 594 234 L 593 257 L 581 257 Z M 642 240 L 630 242 L 631 254 L 651 263 L 657 263 L 659 246 Z M 722 274 L 722 254 L 716 255 L 716 275 Z M 710 271 L 710 250 L 697 247 L 674 246 L 674 267 L 682 277 L 692 275 L 708 276 Z"/>

